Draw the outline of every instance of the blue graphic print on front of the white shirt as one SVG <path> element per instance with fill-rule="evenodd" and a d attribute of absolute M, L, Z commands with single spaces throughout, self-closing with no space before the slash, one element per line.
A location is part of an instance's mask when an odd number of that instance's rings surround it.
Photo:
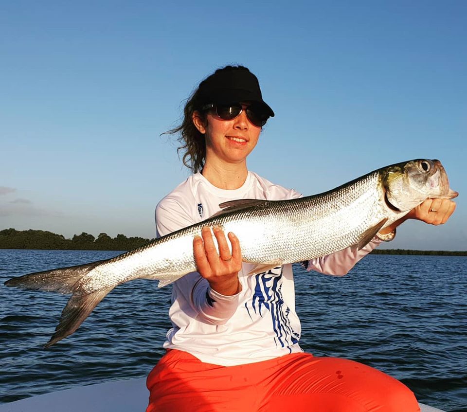
<path fill-rule="evenodd" d="M 276 335 L 274 338 L 276 346 L 287 347 L 291 352 L 291 346 L 298 343 L 300 336 L 290 326 L 288 319 L 290 308 L 285 305 L 282 297 L 282 267 L 255 275 L 255 281 L 251 301 L 252 313 L 248 308 L 249 303 L 245 303 L 251 320 L 253 317 L 264 317 L 269 314 Z"/>

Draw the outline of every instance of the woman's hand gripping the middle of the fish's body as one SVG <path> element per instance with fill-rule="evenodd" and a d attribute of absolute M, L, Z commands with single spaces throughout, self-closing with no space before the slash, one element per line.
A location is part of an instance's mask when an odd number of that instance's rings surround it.
<path fill-rule="evenodd" d="M 240 292 L 238 272 L 242 269 L 242 252 L 240 242 L 234 233 L 228 234 L 232 244 L 232 254 L 221 227 L 213 228 L 219 253 L 216 251 L 211 229 L 207 226 L 201 230 L 201 236 L 193 239 L 193 253 L 198 273 L 207 281 L 213 290 L 221 295 L 231 296 Z"/>

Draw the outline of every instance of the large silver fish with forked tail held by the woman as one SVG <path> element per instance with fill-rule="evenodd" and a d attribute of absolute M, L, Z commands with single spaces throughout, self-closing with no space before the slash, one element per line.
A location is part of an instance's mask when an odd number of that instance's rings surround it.
<path fill-rule="evenodd" d="M 256 274 L 348 247 L 361 249 L 427 198 L 457 195 L 440 161 L 405 161 L 320 195 L 226 202 L 211 218 L 112 259 L 31 273 L 5 285 L 72 294 L 48 347 L 71 335 L 117 285 L 144 278 L 157 279 L 162 287 L 195 271 L 193 238 L 203 226 L 219 225 L 225 233 L 235 233 L 243 261 L 256 264 L 250 272 Z"/>

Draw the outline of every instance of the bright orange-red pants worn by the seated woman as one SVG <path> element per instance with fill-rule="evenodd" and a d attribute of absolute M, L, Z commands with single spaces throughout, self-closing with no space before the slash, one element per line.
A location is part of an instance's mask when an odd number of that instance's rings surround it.
<path fill-rule="evenodd" d="M 306 353 L 238 366 L 169 350 L 147 377 L 146 412 L 415 412 L 398 380 L 352 360 Z"/>

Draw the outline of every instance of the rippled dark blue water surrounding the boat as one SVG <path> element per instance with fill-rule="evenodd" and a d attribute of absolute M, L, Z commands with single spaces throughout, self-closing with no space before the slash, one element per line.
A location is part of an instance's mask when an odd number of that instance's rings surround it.
<path fill-rule="evenodd" d="M 68 297 L 3 286 L 118 253 L 0 250 L 0 403 L 149 373 L 170 327 L 170 287 L 121 285 L 44 350 Z M 370 255 L 344 277 L 294 271 L 306 351 L 357 360 L 401 380 L 422 403 L 467 411 L 466 257 Z"/>

